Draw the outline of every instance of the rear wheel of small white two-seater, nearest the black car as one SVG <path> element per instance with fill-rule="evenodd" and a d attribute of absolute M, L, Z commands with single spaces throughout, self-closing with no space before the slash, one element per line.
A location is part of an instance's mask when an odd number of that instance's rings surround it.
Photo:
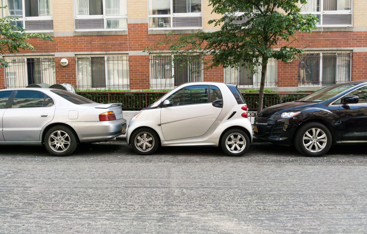
<path fill-rule="evenodd" d="M 221 140 L 223 151 L 229 156 L 241 156 L 250 147 L 250 139 L 241 129 L 226 131 Z"/>

